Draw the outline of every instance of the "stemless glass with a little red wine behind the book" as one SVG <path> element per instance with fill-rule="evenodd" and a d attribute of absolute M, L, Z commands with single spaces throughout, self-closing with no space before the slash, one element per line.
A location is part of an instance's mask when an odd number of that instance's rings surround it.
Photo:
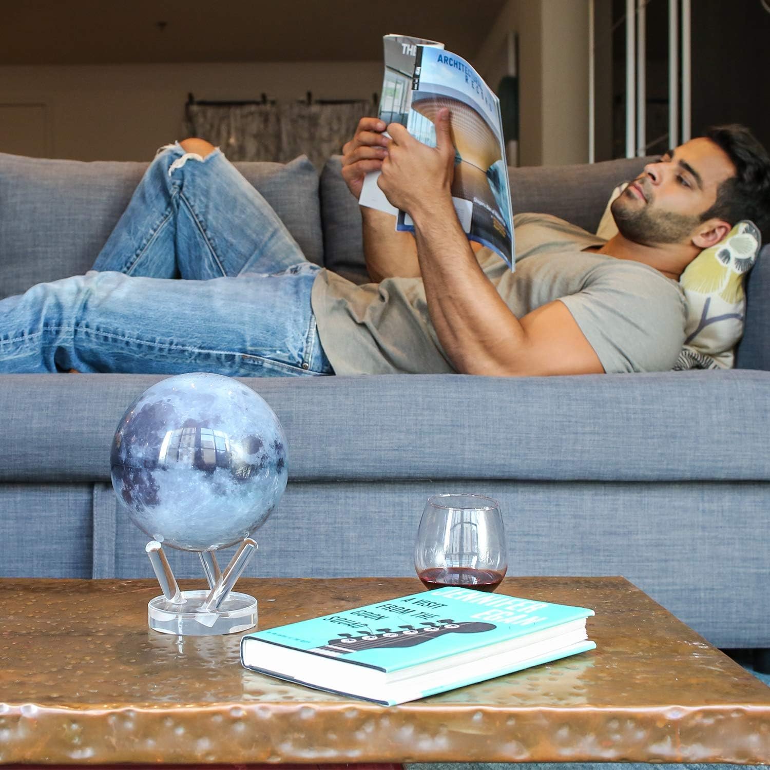
<path fill-rule="evenodd" d="M 508 568 L 500 504 L 480 494 L 434 494 L 420 519 L 414 568 L 426 588 L 494 591 Z"/>

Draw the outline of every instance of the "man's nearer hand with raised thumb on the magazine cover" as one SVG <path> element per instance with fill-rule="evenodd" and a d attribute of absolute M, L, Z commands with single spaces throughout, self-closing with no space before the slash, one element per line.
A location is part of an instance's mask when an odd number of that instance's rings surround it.
<path fill-rule="evenodd" d="M 417 210 L 443 207 L 452 195 L 455 153 L 447 108 L 438 111 L 434 126 L 435 147 L 424 145 L 399 123 L 387 127 L 391 141 L 377 184 L 390 203 L 412 219 Z"/>

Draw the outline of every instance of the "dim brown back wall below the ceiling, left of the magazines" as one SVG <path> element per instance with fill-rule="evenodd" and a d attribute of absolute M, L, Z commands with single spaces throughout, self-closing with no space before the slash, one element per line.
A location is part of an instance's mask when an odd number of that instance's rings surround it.
<path fill-rule="evenodd" d="M 0 66 L 0 152 L 148 160 L 196 99 L 371 99 L 382 62 Z M 373 106 L 372 113 L 376 112 Z"/>

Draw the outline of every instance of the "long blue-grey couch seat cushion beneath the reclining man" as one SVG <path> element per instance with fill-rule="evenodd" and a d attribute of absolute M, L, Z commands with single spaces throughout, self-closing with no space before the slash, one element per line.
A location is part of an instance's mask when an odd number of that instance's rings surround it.
<path fill-rule="evenodd" d="M 0 483 L 109 480 L 120 417 L 162 379 L 0 376 Z M 770 480 L 766 372 L 242 381 L 286 430 L 290 482 Z"/>

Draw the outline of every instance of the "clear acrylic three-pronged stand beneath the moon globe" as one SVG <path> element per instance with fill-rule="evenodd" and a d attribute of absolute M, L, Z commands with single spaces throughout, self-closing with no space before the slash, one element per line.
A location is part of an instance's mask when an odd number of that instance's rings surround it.
<path fill-rule="evenodd" d="M 256 599 L 233 591 L 246 563 L 256 551 L 250 537 L 240 544 L 225 571 L 219 570 L 213 551 L 199 551 L 209 591 L 179 591 L 162 545 L 152 540 L 145 547 L 163 591 L 147 605 L 149 627 L 161 634 L 209 636 L 235 634 L 256 626 Z"/>

